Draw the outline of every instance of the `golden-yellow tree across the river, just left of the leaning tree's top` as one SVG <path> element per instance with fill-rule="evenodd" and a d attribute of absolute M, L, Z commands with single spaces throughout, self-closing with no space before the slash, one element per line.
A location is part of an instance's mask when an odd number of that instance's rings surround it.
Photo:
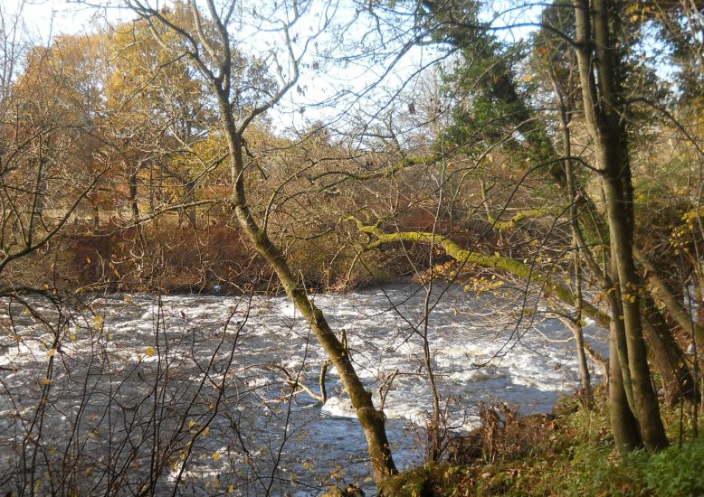
<path fill-rule="evenodd" d="M 183 4 L 176 3 L 165 12 L 174 22 L 186 22 Z M 128 204 L 133 220 L 139 219 L 142 196 L 166 196 L 154 177 L 176 183 L 172 189 L 195 226 L 195 192 L 213 164 L 198 164 L 198 154 L 190 149 L 210 131 L 206 127 L 209 106 L 205 101 L 204 81 L 187 61 L 173 59 L 149 33 L 147 23 L 122 23 L 111 37 L 114 60 L 107 85 L 108 111 L 115 141 L 113 161 L 121 163 L 128 185 Z M 140 181 L 140 177 L 143 177 Z M 150 180 L 151 178 L 151 180 Z M 147 195 L 138 194 L 145 183 Z"/>

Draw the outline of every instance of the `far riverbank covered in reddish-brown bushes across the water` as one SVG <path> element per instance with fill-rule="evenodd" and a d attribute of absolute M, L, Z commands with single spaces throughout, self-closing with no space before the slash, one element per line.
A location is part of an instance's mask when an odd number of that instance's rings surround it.
<path fill-rule="evenodd" d="M 335 237 L 306 245 L 290 243 L 286 254 L 305 286 L 341 293 L 388 284 L 423 269 L 413 250 L 389 248 L 358 257 L 357 248 Z M 282 287 L 268 263 L 238 230 L 221 220 L 196 230 L 175 220 L 137 229 L 104 224 L 90 230 L 71 225 L 51 244 L 5 267 L 8 291 L 128 292 L 170 295 L 276 295 Z"/>

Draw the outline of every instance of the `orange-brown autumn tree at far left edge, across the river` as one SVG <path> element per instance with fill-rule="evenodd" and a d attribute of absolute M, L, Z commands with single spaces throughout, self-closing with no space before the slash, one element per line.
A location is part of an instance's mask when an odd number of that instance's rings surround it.
<path fill-rule="evenodd" d="M 3 25 L 20 29 L 18 22 Z M 87 77 L 91 68 L 81 66 L 95 61 L 81 56 L 98 52 L 99 44 L 58 38 L 49 47 L 23 52 L 15 33 L 4 32 L 3 40 L 8 44 L 0 91 L 0 272 L 57 235 L 107 172 L 96 159 L 98 85 Z M 24 70 L 17 73 L 23 56 Z"/>

